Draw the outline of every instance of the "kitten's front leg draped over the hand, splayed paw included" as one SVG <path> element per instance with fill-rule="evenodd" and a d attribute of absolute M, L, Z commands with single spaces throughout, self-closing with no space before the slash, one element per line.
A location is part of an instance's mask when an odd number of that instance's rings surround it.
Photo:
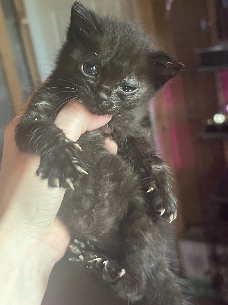
<path fill-rule="evenodd" d="M 42 91 L 42 88 L 40 89 Z M 20 151 L 40 156 L 37 175 L 48 179 L 51 187 L 74 188 L 73 182 L 79 173 L 85 173 L 81 161 L 81 147 L 70 141 L 54 124 L 55 105 L 34 95 L 25 114 L 16 126 L 15 139 Z M 61 100 L 60 100 L 61 101 Z M 56 103 L 58 105 L 58 103 Z"/>

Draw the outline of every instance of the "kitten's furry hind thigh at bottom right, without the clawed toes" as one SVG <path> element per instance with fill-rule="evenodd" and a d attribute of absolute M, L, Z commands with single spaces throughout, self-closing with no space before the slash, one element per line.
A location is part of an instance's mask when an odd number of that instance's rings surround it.
<path fill-rule="evenodd" d="M 132 302 L 146 298 L 149 304 L 187 305 L 157 224 L 136 207 L 123 224 L 125 258 L 119 264 L 126 274 L 114 285 L 116 292 Z"/>

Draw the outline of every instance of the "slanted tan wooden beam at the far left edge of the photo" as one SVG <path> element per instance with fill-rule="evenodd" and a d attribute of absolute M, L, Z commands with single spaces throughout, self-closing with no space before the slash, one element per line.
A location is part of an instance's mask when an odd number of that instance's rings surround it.
<path fill-rule="evenodd" d="M 5 26 L 2 5 L 0 1 L 0 60 L 5 75 L 6 86 L 15 113 L 23 106 L 22 90 L 17 75 L 14 58 L 11 51 L 8 33 Z"/>

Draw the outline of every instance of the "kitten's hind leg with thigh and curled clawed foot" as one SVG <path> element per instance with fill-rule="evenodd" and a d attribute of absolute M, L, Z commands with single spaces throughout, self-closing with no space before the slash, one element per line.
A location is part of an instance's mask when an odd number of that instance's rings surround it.
<path fill-rule="evenodd" d="M 125 240 L 122 259 L 102 255 L 90 242 L 77 239 L 70 245 L 72 262 L 84 265 L 108 282 L 123 299 L 148 304 L 187 305 L 180 280 L 170 270 L 166 246 L 157 227 L 148 217 L 133 212 L 132 223 L 127 217 L 123 232 Z"/>

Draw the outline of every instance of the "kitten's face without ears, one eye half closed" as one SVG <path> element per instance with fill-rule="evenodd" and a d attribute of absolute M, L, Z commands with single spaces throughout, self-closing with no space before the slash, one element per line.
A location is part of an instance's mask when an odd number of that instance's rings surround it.
<path fill-rule="evenodd" d="M 121 43 L 117 47 L 116 41 L 116 49 L 112 48 L 105 34 L 102 40 L 97 40 L 96 51 L 76 49 L 71 53 L 71 69 L 75 74 L 74 83 L 80 87 L 80 102 L 92 113 L 115 114 L 133 109 L 152 88 L 142 75 L 143 58 L 140 59 L 140 54 L 131 58 L 132 52 L 127 46 L 123 53 L 119 52 Z"/>

